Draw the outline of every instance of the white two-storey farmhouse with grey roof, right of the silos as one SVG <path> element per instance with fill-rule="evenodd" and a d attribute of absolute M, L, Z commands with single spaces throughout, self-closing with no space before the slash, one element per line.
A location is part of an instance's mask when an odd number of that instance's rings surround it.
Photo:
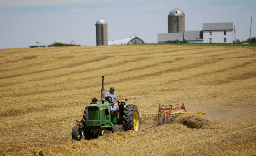
<path fill-rule="evenodd" d="M 233 22 L 203 23 L 203 43 L 233 43 Z"/>

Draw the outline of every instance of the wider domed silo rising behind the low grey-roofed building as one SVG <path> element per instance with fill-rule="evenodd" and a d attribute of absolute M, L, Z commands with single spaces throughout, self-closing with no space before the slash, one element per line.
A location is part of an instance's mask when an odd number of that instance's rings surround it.
<path fill-rule="evenodd" d="M 180 9 L 173 9 L 168 15 L 168 33 L 185 31 L 185 14 Z"/>

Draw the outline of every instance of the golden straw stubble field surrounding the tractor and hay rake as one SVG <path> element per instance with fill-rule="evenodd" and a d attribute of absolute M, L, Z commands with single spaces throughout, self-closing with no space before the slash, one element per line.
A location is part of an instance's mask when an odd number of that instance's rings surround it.
<path fill-rule="evenodd" d="M 0 155 L 256 155 L 255 47 L 10 48 L 0 49 L 0 60 Z M 71 140 L 90 93 L 100 99 L 101 76 L 106 91 L 114 86 L 140 115 L 183 102 L 207 111 L 209 126 L 176 119 Z"/>

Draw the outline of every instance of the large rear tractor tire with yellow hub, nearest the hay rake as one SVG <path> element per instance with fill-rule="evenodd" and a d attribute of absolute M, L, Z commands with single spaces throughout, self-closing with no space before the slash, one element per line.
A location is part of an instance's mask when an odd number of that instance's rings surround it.
<path fill-rule="evenodd" d="M 136 105 L 127 105 L 124 108 L 123 121 L 124 131 L 135 130 L 140 128 L 140 115 Z"/>

